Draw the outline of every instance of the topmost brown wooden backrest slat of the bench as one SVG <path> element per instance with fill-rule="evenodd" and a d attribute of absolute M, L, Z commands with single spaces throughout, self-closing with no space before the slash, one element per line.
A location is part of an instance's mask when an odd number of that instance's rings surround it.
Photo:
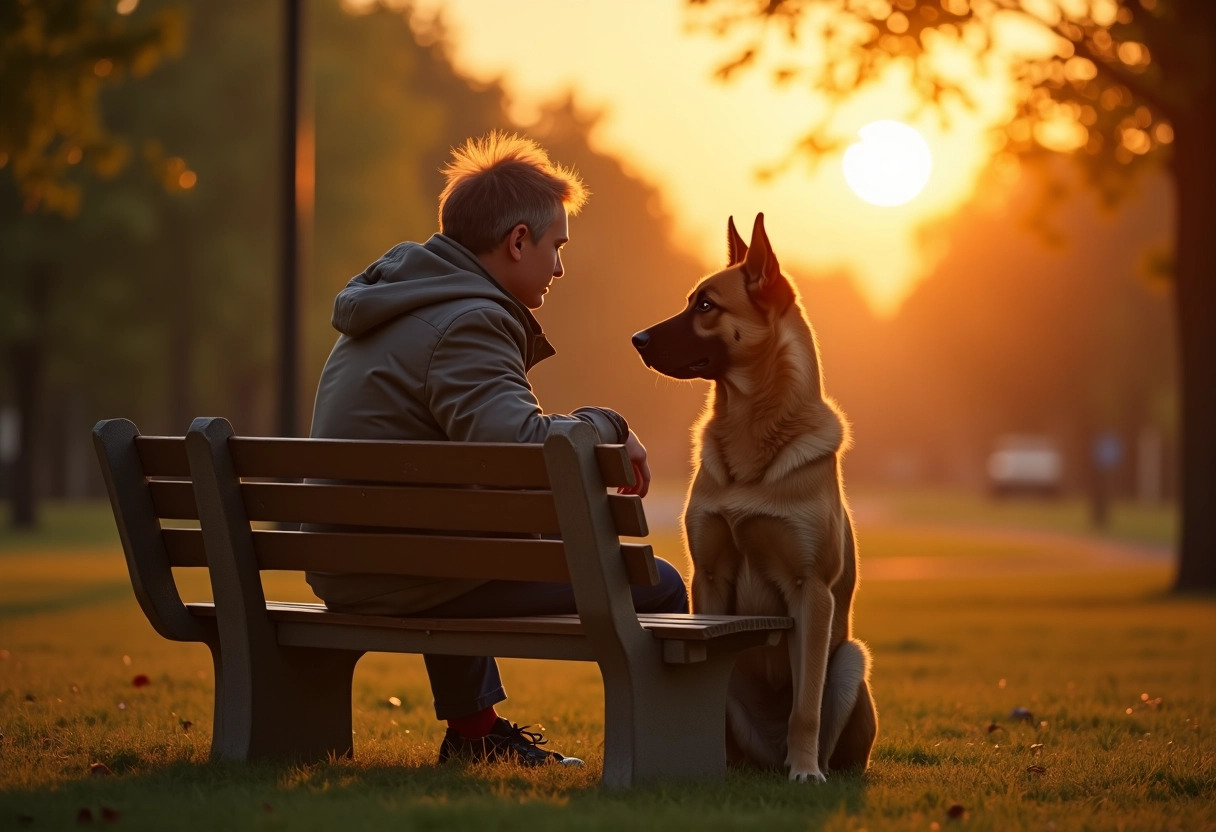
<path fill-rule="evenodd" d="M 135 444 L 146 476 L 190 477 L 180 437 L 139 437 Z M 233 437 L 229 450 L 242 478 L 550 488 L 540 445 Z M 634 484 L 623 445 L 597 445 L 595 452 L 604 487 Z"/>

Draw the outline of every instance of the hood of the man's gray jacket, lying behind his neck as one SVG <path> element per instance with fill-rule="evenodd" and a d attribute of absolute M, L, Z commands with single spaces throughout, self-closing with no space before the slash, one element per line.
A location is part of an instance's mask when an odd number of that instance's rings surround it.
<path fill-rule="evenodd" d="M 529 336 L 528 366 L 553 354 L 531 311 L 499 285 L 471 251 L 451 237 L 390 248 L 347 283 L 333 302 L 333 327 L 359 338 L 393 319 L 438 303 L 483 298 L 511 313 Z"/>

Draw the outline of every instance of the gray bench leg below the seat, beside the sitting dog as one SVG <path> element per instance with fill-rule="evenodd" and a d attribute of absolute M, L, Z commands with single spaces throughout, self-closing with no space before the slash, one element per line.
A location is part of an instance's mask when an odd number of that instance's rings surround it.
<path fill-rule="evenodd" d="M 606 788 L 726 776 L 726 686 L 736 653 L 604 676 Z"/>

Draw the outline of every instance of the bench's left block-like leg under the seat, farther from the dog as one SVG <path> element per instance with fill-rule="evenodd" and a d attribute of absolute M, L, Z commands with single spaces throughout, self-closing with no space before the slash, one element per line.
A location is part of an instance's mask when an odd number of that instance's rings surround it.
<path fill-rule="evenodd" d="M 349 757 L 358 651 L 282 647 L 258 662 L 215 662 L 212 759 Z"/>

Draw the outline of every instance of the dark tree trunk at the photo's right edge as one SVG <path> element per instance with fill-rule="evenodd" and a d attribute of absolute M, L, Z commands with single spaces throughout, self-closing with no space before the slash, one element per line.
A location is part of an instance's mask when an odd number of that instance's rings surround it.
<path fill-rule="evenodd" d="M 1216 591 L 1216 119 L 1198 106 L 1176 135 L 1182 535 L 1173 589 L 1210 592 Z"/>

